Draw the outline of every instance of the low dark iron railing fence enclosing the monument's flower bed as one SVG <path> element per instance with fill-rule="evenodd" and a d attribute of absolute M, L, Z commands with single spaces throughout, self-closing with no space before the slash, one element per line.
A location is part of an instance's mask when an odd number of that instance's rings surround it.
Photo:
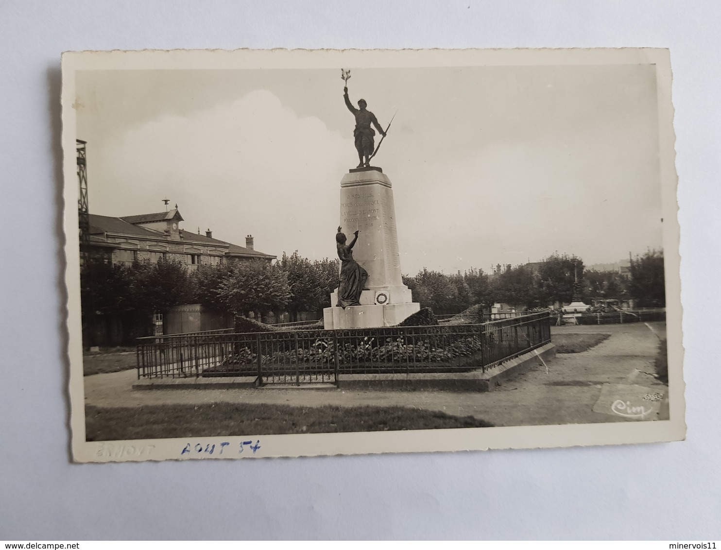
<path fill-rule="evenodd" d="M 339 374 L 486 371 L 550 341 L 547 312 L 482 324 L 145 337 L 138 378 L 300 384 L 337 383 Z"/>

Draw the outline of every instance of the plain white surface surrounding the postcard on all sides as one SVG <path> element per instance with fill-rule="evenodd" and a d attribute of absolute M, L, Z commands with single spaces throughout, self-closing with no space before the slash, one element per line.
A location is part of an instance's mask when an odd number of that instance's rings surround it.
<path fill-rule="evenodd" d="M 0 537 L 720 538 L 716 1 L 0 3 Z M 671 48 L 683 443 L 257 461 L 69 462 L 60 53 Z"/>

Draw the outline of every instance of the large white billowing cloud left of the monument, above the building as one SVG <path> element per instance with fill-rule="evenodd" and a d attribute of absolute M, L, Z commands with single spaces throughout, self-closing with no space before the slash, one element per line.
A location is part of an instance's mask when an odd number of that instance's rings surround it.
<path fill-rule="evenodd" d="M 258 90 L 108 141 L 93 159 L 91 210 L 159 211 L 167 195 L 186 231 L 210 228 L 240 245 L 253 234 L 257 249 L 279 256 L 294 249 L 332 256 L 339 182 L 354 157 L 352 141 Z"/>

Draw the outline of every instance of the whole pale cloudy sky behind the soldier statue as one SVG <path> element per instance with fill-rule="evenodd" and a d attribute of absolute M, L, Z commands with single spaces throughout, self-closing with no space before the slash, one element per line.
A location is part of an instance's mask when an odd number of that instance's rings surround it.
<path fill-rule="evenodd" d="M 393 182 L 404 272 L 661 246 L 653 66 L 351 74 L 381 125 L 397 111 L 373 164 Z M 79 71 L 90 211 L 159 212 L 167 197 L 186 231 L 333 257 L 340 179 L 358 163 L 342 87 L 340 68 Z"/>

